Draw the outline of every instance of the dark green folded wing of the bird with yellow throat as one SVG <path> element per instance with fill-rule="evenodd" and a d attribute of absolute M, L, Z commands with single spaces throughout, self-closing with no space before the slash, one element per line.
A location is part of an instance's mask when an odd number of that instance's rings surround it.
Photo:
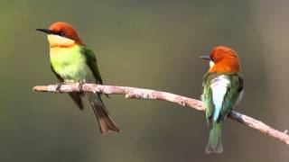
<path fill-rule="evenodd" d="M 87 65 L 89 66 L 93 76 L 95 77 L 96 83 L 102 85 L 102 79 L 98 70 L 97 58 L 95 57 L 93 51 L 88 47 L 82 47 L 81 53 L 84 54 L 84 56 L 86 57 Z"/>

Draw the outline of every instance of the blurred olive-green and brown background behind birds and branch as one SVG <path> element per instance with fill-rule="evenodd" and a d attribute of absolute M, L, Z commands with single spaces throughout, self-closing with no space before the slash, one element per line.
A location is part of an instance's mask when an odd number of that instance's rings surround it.
<path fill-rule="evenodd" d="M 224 153 L 206 155 L 202 112 L 161 101 L 104 98 L 123 132 L 103 136 L 89 103 L 33 93 L 56 83 L 46 36 L 36 28 L 74 25 L 98 56 L 107 85 L 199 98 L 218 45 L 238 51 L 245 97 L 238 111 L 289 129 L 289 3 L 286 1 L 1 0 L 0 161 L 287 161 L 289 148 L 228 120 Z"/>

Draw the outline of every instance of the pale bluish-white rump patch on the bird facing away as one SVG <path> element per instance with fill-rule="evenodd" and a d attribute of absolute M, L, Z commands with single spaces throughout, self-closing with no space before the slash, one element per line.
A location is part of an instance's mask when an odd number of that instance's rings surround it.
<path fill-rule="evenodd" d="M 228 76 L 218 76 L 212 80 L 210 85 L 212 91 L 212 99 L 215 105 L 215 112 L 213 115 L 213 119 L 217 120 L 219 117 L 219 112 L 222 108 L 222 104 L 224 101 L 224 97 L 227 93 L 228 86 L 230 86 L 230 81 Z"/>

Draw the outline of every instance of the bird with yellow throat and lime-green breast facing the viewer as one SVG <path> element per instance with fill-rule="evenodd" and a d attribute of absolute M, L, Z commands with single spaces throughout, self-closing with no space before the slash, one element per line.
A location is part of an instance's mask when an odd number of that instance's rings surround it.
<path fill-rule="evenodd" d="M 36 31 L 47 34 L 50 45 L 51 70 L 60 81 L 57 90 L 63 84 L 79 83 L 80 90 L 87 81 L 103 84 L 94 52 L 80 40 L 78 32 L 69 23 L 52 23 L 48 29 L 42 28 L 36 29 Z M 81 99 L 83 95 L 83 93 L 70 93 L 70 97 L 80 110 L 83 110 Z M 88 95 L 89 103 L 98 119 L 100 132 L 102 134 L 110 131 L 121 132 L 117 123 L 107 112 L 100 94 L 86 95 Z"/>

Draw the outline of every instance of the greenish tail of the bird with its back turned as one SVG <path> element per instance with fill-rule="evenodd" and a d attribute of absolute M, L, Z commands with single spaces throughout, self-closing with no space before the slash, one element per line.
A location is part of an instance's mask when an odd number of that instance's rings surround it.
<path fill-rule="evenodd" d="M 223 152 L 223 145 L 222 145 L 222 122 L 223 121 L 213 121 L 210 125 L 210 137 L 208 145 L 205 149 L 207 154 L 210 153 L 222 153 Z"/>

